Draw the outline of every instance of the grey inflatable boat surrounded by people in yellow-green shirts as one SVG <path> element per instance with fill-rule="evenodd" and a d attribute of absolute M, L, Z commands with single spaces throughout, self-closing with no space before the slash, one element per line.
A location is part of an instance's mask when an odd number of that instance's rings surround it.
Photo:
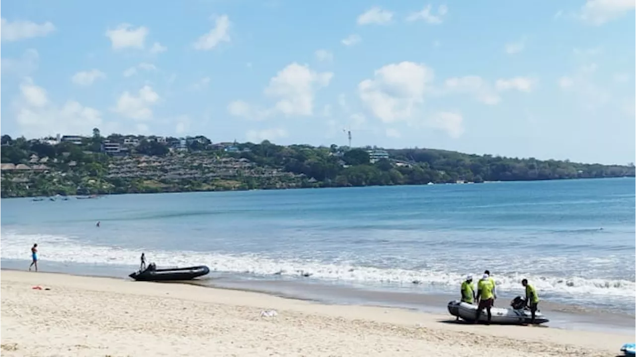
<path fill-rule="evenodd" d="M 492 316 L 492 320 L 490 323 L 495 323 L 498 325 L 524 325 L 530 324 L 530 320 L 532 315 L 530 314 L 529 309 L 525 309 L 525 300 L 521 297 L 516 297 L 511 303 L 511 307 L 508 309 L 503 309 L 501 307 L 493 307 L 490 309 L 490 314 Z M 468 304 L 466 302 L 460 302 L 458 300 L 453 300 L 448 302 L 448 313 L 453 316 L 457 316 L 458 318 L 474 322 L 475 316 L 477 314 L 477 306 L 473 304 Z M 479 321 L 487 322 L 488 314 L 486 313 L 486 309 L 481 311 Z M 534 324 L 539 325 L 541 323 L 546 323 L 550 320 L 544 316 L 540 311 L 536 311 L 534 316 Z"/>

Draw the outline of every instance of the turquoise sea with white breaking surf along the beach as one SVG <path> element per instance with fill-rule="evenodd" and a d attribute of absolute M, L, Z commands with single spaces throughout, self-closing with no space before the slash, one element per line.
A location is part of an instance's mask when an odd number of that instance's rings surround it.
<path fill-rule="evenodd" d="M 145 252 L 213 276 L 413 293 L 456 293 L 490 269 L 501 293 L 528 278 L 546 300 L 636 306 L 634 179 L 2 199 L 0 212 L 0 259 L 26 262 L 37 242 L 43 269 L 121 271 Z"/>

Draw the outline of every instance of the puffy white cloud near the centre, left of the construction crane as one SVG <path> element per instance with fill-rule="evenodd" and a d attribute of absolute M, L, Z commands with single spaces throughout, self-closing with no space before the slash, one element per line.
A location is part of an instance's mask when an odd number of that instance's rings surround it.
<path fill-rule="evenodd" d="M 286 116 L 314 114 L 314 93 L 329 85 L 331 72 L 318 73 L 296 62 L 279 71 L 265 88 L 265 95 L 277 98 L 275 111 Z"/>

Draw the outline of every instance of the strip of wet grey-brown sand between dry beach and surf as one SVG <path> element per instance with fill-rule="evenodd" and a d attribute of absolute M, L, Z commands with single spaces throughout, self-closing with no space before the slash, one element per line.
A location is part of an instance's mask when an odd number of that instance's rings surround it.
<path fill-rule="evenodd" d="M 47 262 L 49 263 L 49 262 Z M 5 266 L 2 271 L 13 273 L 29 273 L 21 269 L 29 262 L 0 260 Z M 8 266 L 8 267 L 7 267 Z M 106 278 L 116 281 L 133 281 L 128 278 L 132 267 L 93 267 L 92 271 L 82 273 L 79 267 L 54 266 L 52 270 L 39 271 L 38 274 L 55 274 L 60 276 L 78 276 L 86 278 Z M 33 272 L 35 273 L 35 272 Z M 241 278 L 237 274 L 211 272 L 203 279 L 179 282 L 158 283 L 165 285 L 190 285 L 207 289 L 232 290 L 236 292 L 258 293 L 287 300 L 300 300 L 328 306 L 368 306 L 388 309 L 404 309 L 406 311 L 434 314 L 453 318 L 446 310 L 446 304 L 455 300 L 455 296 L 446 293 L 421 293 L 395 290 L 382 290 L 370 287 L 347 286 L 328 281 L 274 280 Z M 503 295 L 497 305 L 508 307 L 512 296 Z M 555 304 L 543 301 L 541 310 L 548 315 L 550 323 L 546 326 L 558 330 L 575 330 L 605 333 L 632 333 L 633 316 L 618 314 L 601 309 L 584 309 L 578 305 Z"/>

